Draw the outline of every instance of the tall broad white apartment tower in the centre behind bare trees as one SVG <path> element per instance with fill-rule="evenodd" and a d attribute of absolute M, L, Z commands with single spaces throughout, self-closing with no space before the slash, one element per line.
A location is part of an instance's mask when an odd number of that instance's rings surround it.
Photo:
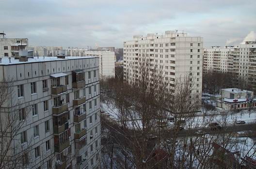
<path fill-rule="evenodd" d="M 124 79 L 133 81 L 133 69 L 143 58 L 150 61 L 163 76 L 172 90 L 175 80 L 191 76 L 194 82 L 192 95 L 201 97 L 203 70 L 203 38 L 188 36 L 187 33 L 165 31 L 165 35 L 147 34 L 133 36 L 133 40 L 124 42 Z M 140 72 L 139 72 L 140 73 Z"/>

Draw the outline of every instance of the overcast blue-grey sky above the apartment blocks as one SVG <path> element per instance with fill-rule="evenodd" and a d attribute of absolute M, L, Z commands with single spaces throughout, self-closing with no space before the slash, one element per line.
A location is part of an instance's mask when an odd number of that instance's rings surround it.
<path fill-rule="evenodd" d="M 0 31 L 38 46 L 115 46 L 184 30 L 205 46 L 256 39 L 256 0 L 0 0 Z"/>

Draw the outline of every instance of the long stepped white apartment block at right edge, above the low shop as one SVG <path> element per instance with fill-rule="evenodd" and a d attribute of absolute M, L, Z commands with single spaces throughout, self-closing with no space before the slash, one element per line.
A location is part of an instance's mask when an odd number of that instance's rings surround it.
<path fill-rule="evenodd" d="M 204 50 L 204 72 L 228 72 L 244 78 L 256 89 L 256 42 Z"/>

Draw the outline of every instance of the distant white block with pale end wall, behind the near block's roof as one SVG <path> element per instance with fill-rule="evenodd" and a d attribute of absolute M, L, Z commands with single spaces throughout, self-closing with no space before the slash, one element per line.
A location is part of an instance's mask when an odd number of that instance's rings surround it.
<path fill-rule="evenodd" d="M 70 49 L 70 56 L 96 56 L 99 57 L 99 74 L 103 77 L 114 77 L 115 53 L 110 50 L 87 50 L 87 49 Z"/>

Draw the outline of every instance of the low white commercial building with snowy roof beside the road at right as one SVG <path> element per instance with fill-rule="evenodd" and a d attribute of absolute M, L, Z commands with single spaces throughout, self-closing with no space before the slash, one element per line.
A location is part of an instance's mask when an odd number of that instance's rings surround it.
<path fill-rule="evenodd" d="M 241 110 L 256 107 L 254 92 L 238 88 L 220 90 L 217 98 L 217 108 L 223 110 Z"/>

